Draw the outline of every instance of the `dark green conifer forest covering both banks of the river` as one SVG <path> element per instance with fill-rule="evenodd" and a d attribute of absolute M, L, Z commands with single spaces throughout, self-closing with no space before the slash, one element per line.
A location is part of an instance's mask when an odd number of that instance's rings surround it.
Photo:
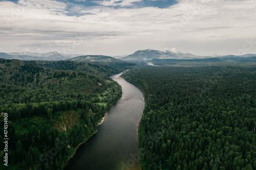
<path fill-rule="evenodd" d="M 124 69 L 0 59 L 8 169 L 62 169 L 121 97 L 121 86 L 108 76 Z M 146 66 L 123 78 L 145 97 L 138 134 L 144 170 L 256 169 L 254 64 Z"/>

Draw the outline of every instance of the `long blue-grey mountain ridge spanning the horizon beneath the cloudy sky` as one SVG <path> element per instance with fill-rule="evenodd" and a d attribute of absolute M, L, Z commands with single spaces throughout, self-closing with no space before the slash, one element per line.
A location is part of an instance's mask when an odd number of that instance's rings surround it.
<path fill-rule="evenodd" d="M 81 54 L 60 54 L 58 52 L 49 53 L 30 53 L 30 52 L 13 52 L 0 53 L 0 58 L 4 59 L 19 59 L 19 60 L 48 60 L 48 61 L 83 61 L 91 63 L 107 64 L 110 62 L 150 62 L 153 59 L 206 59 L 206 58 L 227 58 L 230 61 L 238 61 L 241 58 L 256 57 L 256 54 L 244 55 L 212 55 L 212 56 L 198 56 L 191 53 L 173 52 L 170 50 L 138 50 L 130 55 L 122 56 L 105 56 L 105 55 L 81 55 Z M 91 59 L 94 58 L 94 59 Z"/>

